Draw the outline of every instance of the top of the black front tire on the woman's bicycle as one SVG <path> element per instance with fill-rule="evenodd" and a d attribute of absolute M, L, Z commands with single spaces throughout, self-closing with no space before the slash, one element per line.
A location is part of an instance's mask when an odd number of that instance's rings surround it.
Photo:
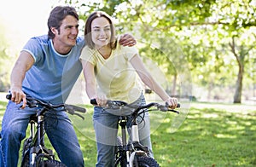
<path fill-rule="evenodd" d="M 133 166 L 137 167 L 160 167 L 154 158 L 148 156 L 136 156 Z"/>

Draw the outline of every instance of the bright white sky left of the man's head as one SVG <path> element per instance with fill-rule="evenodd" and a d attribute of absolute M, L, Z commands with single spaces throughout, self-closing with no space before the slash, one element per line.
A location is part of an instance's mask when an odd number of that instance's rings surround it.
<path fill-rule="evenodd" d="M 0 27 L 9 44 L 21 49 L 30 37 L 47 34 L 47 19 L 58 0 L 0 0 Z M 1 39 L 0 39 L 1 40 Z"/>

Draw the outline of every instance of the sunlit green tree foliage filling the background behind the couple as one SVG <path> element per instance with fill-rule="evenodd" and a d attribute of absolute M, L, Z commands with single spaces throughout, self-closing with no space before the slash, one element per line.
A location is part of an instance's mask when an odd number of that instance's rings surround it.
<path fill-rule="evenodd" d="M 144 43 L 141 55 L 157 61 L 169 81 L 187 73 L 185 78 L 205 86 L 209 96 L 215 86 L 236 88 L 238 103 L 242 86 L 256 85 L 253 0 L 66 2 L 79 9 L 83 20 L 94 10 L 112 15 L 118 32 L 131 32 Z"/>

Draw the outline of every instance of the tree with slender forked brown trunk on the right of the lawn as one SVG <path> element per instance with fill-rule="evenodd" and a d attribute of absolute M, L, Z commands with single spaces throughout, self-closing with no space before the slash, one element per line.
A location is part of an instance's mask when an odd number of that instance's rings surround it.
<path fill-rule="evenodd" d="M 255 31 L 256 26 L 255 11 L 256 3 L 248 0 L 229 1 L 224 3 L 216 3 L 212 14 L 218 14 L 218 25 L 226 32 L 224 38 L 230 40 L 230 52 L 235 56 L 238 73 L 236 79 L 236 90 L 234 95 L 234 103 L 241 103 L 242 83 L 245 72 L 245 66 L 249 62 L 249 58 L 253 61 L 256 56 L 249 55 L 250 50 L 255 49 Z M 226 42 L 226 41 L 225 41 Z M 222 43 L 226 45 L 226 43 Z"/>

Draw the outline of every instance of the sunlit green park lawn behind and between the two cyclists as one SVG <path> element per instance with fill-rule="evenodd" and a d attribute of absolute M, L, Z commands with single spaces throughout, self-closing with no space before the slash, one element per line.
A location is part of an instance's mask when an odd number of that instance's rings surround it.
<path fill-rule="evenodd" d="M 5 102 L 0 101 L 0 117 Z M 96 164 L 92 108 L 85 120 L 72 117 L 86 166 Z M 256 166 L 256 107 L 193 103 L 189 115 L 171 133 L 173 113 L 152 113 L 151 141 L 160 166 Z M 174 118 L 175 119 L 175 118 Z"/>

